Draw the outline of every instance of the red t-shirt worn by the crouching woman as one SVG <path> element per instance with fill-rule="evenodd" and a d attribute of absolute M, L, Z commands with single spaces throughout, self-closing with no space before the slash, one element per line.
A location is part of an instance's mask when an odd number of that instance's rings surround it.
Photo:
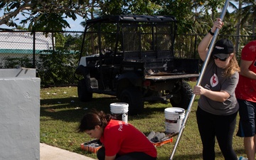
<path fill-rule="evenodd" d="M 156 157 L 156 148 L 146 136 L 132 124 L 111 119 L 100 142 L 105 146 L 105 155 L 124 155 L 131 152 L 144 152 L 149 156 Z"/>

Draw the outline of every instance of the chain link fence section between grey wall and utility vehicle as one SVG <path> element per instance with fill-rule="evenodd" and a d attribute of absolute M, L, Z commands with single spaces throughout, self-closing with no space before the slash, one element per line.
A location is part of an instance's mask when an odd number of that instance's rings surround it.
<path fill-rule="evenodd" d="M 1 31 L 0 68 L 36 68 L 41 86 L 77 84 L 82 32 Z"/>

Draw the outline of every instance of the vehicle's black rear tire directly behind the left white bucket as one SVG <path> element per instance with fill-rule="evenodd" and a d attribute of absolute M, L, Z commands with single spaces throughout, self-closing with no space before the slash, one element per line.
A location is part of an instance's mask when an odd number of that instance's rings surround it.
<path fill-rule="evenodd" d="M 120 95 L 120 101 L 129 104 L 128 114 L 140 114 L 144 109 L 144 101 L 142 99 L 142 92 L 135 87 L 124 89 Z"/>

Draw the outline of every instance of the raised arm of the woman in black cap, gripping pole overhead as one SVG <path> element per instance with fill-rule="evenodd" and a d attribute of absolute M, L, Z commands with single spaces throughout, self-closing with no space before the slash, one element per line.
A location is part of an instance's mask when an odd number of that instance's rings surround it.
<path fill-rule="evenodd" d="M 220 18 L 217 18 L 217 20 L 213 23 L 213 28 L 211 28 L 211 32 L 214 33 L 217 28 L 222 28 L 223 22 Z M 208 53 L 208 46 L 210 45 L 210 41 L 212 40 L 213 36 L 210 33 L 207 33 L 206 36 L 203 38 L 203 40 L 198 45 L 198 53 L 201 58 L 201 60 L 206 60 L 206 55 Z"/>

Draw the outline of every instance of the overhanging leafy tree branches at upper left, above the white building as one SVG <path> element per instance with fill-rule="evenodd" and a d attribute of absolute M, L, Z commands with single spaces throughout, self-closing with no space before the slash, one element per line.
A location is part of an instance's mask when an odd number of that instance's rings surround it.
<path fill-rule="evenodd" d="M 89 0 L 14 0 L 0 1 L 0 9 L 4 16 L 0 18 L 0 25 L 15 26 L 18 14 L 24 17 L 21 24 L 29 23 L 30 30 L 61 31 L 70 28 L 64 18 L 75 19 L 78 16 L 87 17 L 87 11 L 93 8 Z"/>

